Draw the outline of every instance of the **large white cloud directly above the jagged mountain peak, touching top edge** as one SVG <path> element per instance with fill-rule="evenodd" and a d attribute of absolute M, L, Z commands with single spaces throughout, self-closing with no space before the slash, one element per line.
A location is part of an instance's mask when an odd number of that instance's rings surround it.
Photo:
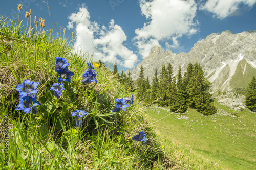
<path fill-rule="evenodd" d="M 135 45 L 143 57 L 148 56 L 152 46 L 160 46 L 160 41 L 172 41 L 173 44 L 165 43 L 166 49 L 177 48 L 178 38 L 197 32 L 194 0 L 140 0 L 139 3 L 142 15 L 149 20 L 135 30 Z"/>

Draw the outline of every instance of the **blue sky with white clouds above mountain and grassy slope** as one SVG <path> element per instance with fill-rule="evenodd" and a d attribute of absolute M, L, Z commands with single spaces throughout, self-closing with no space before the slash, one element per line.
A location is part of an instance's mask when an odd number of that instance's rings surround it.
<path fill-rule="evenodd" d="M 46 28 L 66 28 L 74 50 L 93 54 L 94 60 L 118 64 L 118 70 L 132 69 L 148 56 L 152 46 L 164 51 L 189 52 L 194 44 L 211 33 L 255 30 L 256 0 L 23 0 L 1 1 L 0 14 L 26 27 L 25 12 L 44 18 Z M 63 35 L 63 33 L 62 33 Z M 61 57 L 61 56 L 59 56 Z"/>

